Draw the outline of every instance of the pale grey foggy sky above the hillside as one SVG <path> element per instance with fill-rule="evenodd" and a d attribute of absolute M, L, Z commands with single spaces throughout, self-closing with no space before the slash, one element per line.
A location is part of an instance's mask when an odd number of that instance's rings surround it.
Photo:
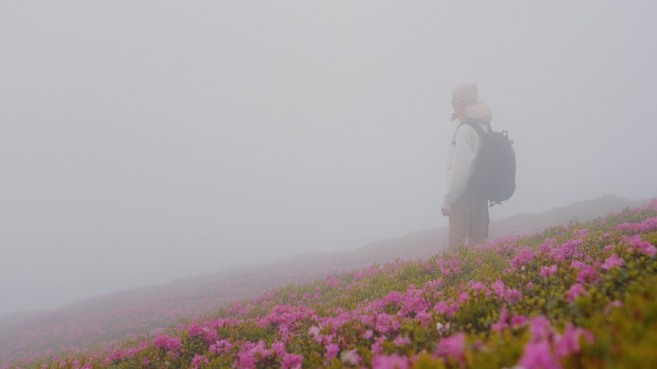
<path fill-rule="evenodd" d="M 0 313 L 441 227 L 451 89 L 491 217 L 657 194 L 654 3 L 3 1 Z"/>

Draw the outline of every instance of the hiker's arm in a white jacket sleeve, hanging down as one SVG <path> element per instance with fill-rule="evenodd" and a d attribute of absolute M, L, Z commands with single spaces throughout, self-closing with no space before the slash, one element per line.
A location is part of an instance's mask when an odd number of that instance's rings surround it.
<path fill-rule="evenodd" d="M 456 147 L 451 172 L 447 179 L 447 188 L 443 194 L 443 209 L 449 211 L 451 206 L 463 196 L 470 179 L 470 168 L 476 155 L 476 131 L 469 125 L 461 125 L 456 133 Z M 443 211 L 443 215 L 445 212 Z M 447 215 L 449 216 L 449 215 Z"/>

